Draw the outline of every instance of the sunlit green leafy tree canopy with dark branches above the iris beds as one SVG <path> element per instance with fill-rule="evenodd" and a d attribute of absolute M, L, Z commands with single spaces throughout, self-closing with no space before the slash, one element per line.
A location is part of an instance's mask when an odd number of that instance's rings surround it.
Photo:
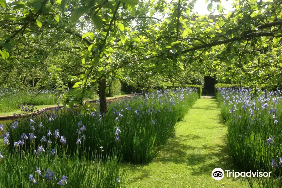
<path fill-rule="evenodd" d="M 221 2 L 206 0 L 211 14 L 198 15 L 195 0 L 0 0 L 1 87 L 36 81 L 82 106 L 85 91 L 98 85 L 107 112 L 115 79 L 181 81 L 200 73 L 281 86 L 282 2 L 236 0 L 227 14 Z M 79 94 L 66 95 L 68 82 Z"/>

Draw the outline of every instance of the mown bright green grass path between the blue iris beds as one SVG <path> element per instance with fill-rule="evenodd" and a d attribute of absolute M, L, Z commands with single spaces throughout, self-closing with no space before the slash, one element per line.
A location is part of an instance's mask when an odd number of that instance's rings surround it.
<path fill-rule="evenodd" d="M 212 170 L 238 170 L 225 145 L 226 126 L 216 99 L 198 99 L 159 156 L 149 165 L 130 165 L 130 187 L 248 187 L 247 180 L 212 179 Z"/>

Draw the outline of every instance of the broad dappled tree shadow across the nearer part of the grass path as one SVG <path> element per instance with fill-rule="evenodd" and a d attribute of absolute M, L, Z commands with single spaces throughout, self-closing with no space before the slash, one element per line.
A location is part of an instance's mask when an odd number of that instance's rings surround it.
<path fill-rule="evenodd" d="M 159 153 L 158 157 L 154 159 L 154 162 L 163 165 L 167 163 L 187 165 L 187 171 L 191 171 L 192 176 L 209 175 L 217 167 L 223 170 L 236 170 L 236 167 L 231 165 L 233 161 L 227 155 L 229 151 L 225 143 L 213 144 L 212 146 L 203 144 L 198 147 L 189 144 L 190 142 L 200 142 L 204 138 L 193 134 L 179 135 L 172 138 L 167 146 Z M 221 140 L 224 140 L 224 138 L 221 138 Z M 154 176 L 153 172 L 144 169 L 144 166 L 146 165 L 131 165 L 130 169 L 133 174 L 138 172 L 137 176 L 134 175 L 133 182 Z"/>

